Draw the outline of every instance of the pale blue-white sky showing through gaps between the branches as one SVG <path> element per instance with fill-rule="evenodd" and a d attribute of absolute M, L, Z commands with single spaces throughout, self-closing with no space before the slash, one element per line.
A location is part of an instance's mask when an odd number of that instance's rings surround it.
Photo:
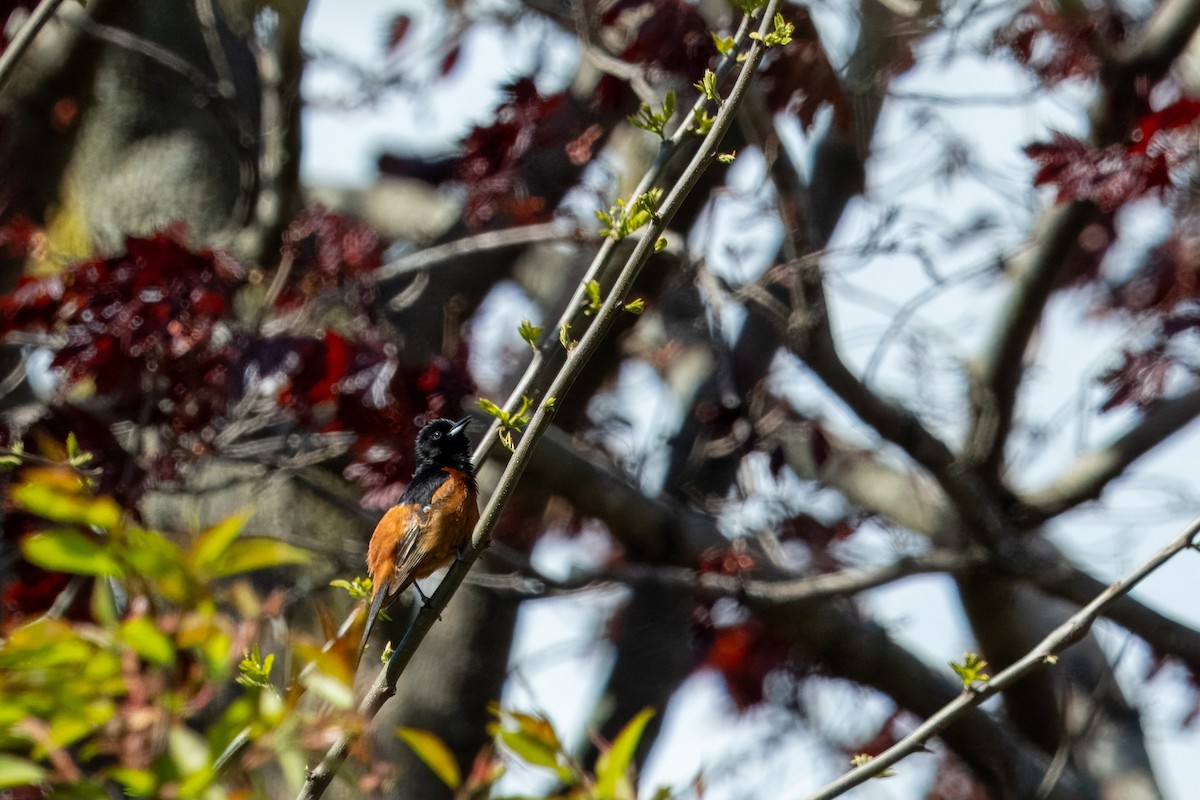
<path fill-rule="evenodd" d="M 360 64 L 377 65 L 382 31 L 403 7 L 404 4 L 389 0 L 317 0 L 307 22 L 307 46 L 334 49 Z M 414 2 L 407 11 L 420 19 L 428 7 Z M 846 32 L 838 22 L 839 8 L 834 4 L 815 6 L 818 25 L 834 54 L 847 46 Z M 414 38 L 408 44 L 419 47 L 424 41 L 419 24 L 410 36 Z M 505 79 L 524 74 L 535 65 L 551 79 L 569 74 L 571 55 L 556 47 L 558 41 L 548 29 L 517 35 L 485 31 L 461 54 L 449 88 L 408 98 L 385 98 L 361 109 L 322 103 L 322 98 L 337 97 L 348 84 L 336 72 L 312 73 L 305 88 L 306 96 L 317 101 L 305 116 L 306 181 L 362 186 L 373 180 L 376 158 L 384 149 L 438 151 L 448 131 L 462 131 L 472 120 L 487 119 L 497 97 L 494 86 Z M 943 127 L 918 126 L 913 118 L 916 103 L 898 100 L 886 107 L 880 122 L 881 146 L 871 163 L 872 184 L 868 198 L 853 204 L 830 243 L 828 282 L 832 317 L 851 363 L 860 369 L 871 368 L 871 384 L 877 391 L 916 399 L 926 420 L 953 441 L 961 435 L 961 421 L 950 413 L 961 407 L 960 367 L 980 351 L 1007 284 L 972 281 L 952 285 L 923 305 L 904 330 L 896 331 L 889 327 L 896 308 L 922 296 L 931 285 L 926 267 L 905 252 L 862 264 L 853 257 L 852 246 L 880 224 L 884 215 L 899 213 L 926 229 L 906 245 L 936 254 L 935 261 L 946 275 L 985 270 L 997 252 L 1021 246 L 1031 219 L 1050 200 L 1042 197 L 1038 204 L 1030 205 L 1025 199 L 1024 187 L 1031 180 L 1032 164 L 1020 148 L 1046 138 L 1054 130 L 1085 131 L 1086 96 L 1078 88 L 1067 86 L 1051 96 L 1022 101 L 1030 83 L 1012 65 L 1000 59 L 952 53 L 950 42 L 937 38 L 928 42 L 926 48 L 928 55 L 944 55 L 953 61 L 948 64 L 946 58 L 922 61 L 923 67 L 898 80 L 896 90 L 913 97 L 930 94 L 948 97 L 952 102 L 937 106 Z M 1004 102 L 985 102 L 995 97 Z M 935 176 L 940 164 L 934 154 L 941 151 L 940 145 L 948 136 L 961 139 L 977 161 L 966 176 L 938 180 Z M 790 142 L 803 163 L 808 157 L 804 137 L 794 131 Z M 762 184 L 761 160 L 752 152 L 744 156 L 730 181 L 733 194 L 740 193 L 744 203 L 739 206 L 734 201 L 718 212 L 727 219 L 737 221 L 739 213 L 745 217 L 745 209 L 762 200 L 757 193 Z M 997 219 L 995 228 L 971 237 L 964 246 L 947 247 L 941 237 L 947 227 L 984 215 Z M 1154 207 L 1136 207 L 1121 222 L 1122 234 L 1130 241 L 1150 241 L 1162 233 L 1162 215 Z M 762 224 L 766 227 L 757 235 L 736 228 L 740 241 L 769 242 L 770 225 Z M 731 252 L 727 237 L 733 231 L 733 225 L 720 224 L 719 216 L 713 236 L 692 246 L 704 248 L 714 271 L 724 270 L 733 281 L 746 279 L 752 277 L 752 265 L 761 258 L 744 252 L 740 258 L 727 258 Z M 839 248 L 846 251 L 841 257 Z M 736 326 L 738 315 L 724 323 Z M 1020 409 L 1022 419 L 1045 435 L 1028 439 L 1018 449 L 1014 481 L 1019 486 L 1040 486 L 1079 452 L 1104 443 L 1130 422 L 1132 415 L 1120 411 L 1103 417 L 1084 415 L 1086 425 L 1060 422 L 1079 417 L 1075 414 L 1079 408 L 1098 405 L 1094 378 L 1111 366 L 1114 348 L 1127 333 L 1122 326 L 1088 314 L 1084 297 L 1064 294 L 1051 302 L 1036 341 L 1039 367 L 1031 371 Z M 914 369 L 914 365 L 924 369 Z M 804 368 L 786 359 L 778 365 L 773 383 L 784 387 L 800 408 L 816 407 L 822 397 Z M 636 366 L 623 372 L 618 391 L 637 391 L 642 397 L 664 392 L 653 371 Z M 631 420 L 630 446 L 643 447 L 641 455 L 652 463 L 655 451 L 661 449 L 660 422 L 671 410 L 662 403 L 668 399 L 646 403 L 642 407 L 646 414 Z M 832 425 L 840 426 L 846 435 L 870 438 L 848 419 L 834 417 Z M 1190 517 L 1187 503 L 1178 501 L 1174 487 L 1183 482 L 1186 494 L 1193 498 L 1200 494 L 1192 479 L 1198 439 L 1200 432 L 1190 429 L 1139 463 L 1134 476 L 1117 482 L 1103 504 L 1070 515 L 1057 525 L 1050 533 L 1054 541 L 1103 579 L 1115 579 L 1132 569 Z M 871 559 L 893 545 L 882 531 L 868 531 L 856 537 L 852 547 L 858 548 L 856 557 Z M 539 547 L 536 558 L 542 569 L 554 572 L 569 570 L 582 555 L 576 543 L 551 540 Z M 1135 595 L 1154 608 L 1200 626 L 1200 604 L 1194 590 L 1196 569 L 1194 555 L 1177 558 Z M 505 703 L 545 711 L 560 730 L 582 730 L 612 658 L 599 632 L 620 600 L 622 593 L 613 590 L 526 603 Z M 898 640 L 930 664 L 946 664 L 971 648 L 953 584 L 946 578 L 898 582 L 869 593 L 864 603 Z M 1170 669 L 1168 675 L 1145 682 L 1142 674 L 1150 654 L 1140 643 L 1130 644 L 1120 628 L 1104 625 L 1102 636 L 1110 652 L 1120 654 L 1118 674 L 1127 679 L 1126 686 L 1133 687 L 1130 699 L 1142 709 L 1166 796 L 1187 798 L 1194 778 L 1186 766 L 1200 752 L 1200 732 L 1177 730 L 1184 693 Z M 815 727 L 845 741 L 868 733 L 890 710 L 877 696 L 832 680 L 814 681 L 805 688 L 805 700 Z M 860 729 L 847 720 L 847 704 L 856 708 Z M 666 710 L 665 733 L 646 766 L 643 790 L 648 794 L 659 784 L 684 787 L 703 771 L 709 778 L 706 798 L 742 796 L 738 789 L 745 788 L 749 776 L 762 780 L 763 775 L 770 777 L 761 784 L 761 796 L 804 796 L 846 765 L 833 762 L 816 738 L 802 726 L 785 721 L 785 716 L 769 708 L 736 715 L 719 678 L 696 673 Z M 781 724 L 786 735 L 767 747 L 760 744 L 773 732 L 778 734 Z M 929 781 L 931 760 L 913 757 L 900 766 L 896 777 L 872 782 L 847 796 L 918 796 Z M 514 786 L 526 781 L 536 784 L 536 778 L 517 775 Z"/>

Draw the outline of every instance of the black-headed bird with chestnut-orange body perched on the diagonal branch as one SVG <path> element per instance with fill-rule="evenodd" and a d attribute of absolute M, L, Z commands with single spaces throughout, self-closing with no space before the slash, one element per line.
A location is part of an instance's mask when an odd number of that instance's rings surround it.
<path fill-rule="evenodd" d="M 383 516 L 367 546 L 371 608 L 358 661 L 384 603 L 416 581 L 462 555 L 479 522 L 475 468 L 470 463 L 470 417 L 433 420 L 416 434 L 416 471 Z M 428 602 L 418 585 L 416 591 Z"/>

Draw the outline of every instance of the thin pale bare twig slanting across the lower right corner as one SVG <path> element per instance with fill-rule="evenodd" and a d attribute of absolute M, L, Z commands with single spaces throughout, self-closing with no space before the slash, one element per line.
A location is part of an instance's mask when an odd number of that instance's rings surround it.
<path fill-rule="evenodd" d="M 916 730 L 889 747 L 887 751 L 872 758 L 870 762 L 842 775 L 836 781 L 829 783 L 823 789 L 811 795 L 809 800 L 830 800 L 853 787 L 864 783 L 869 778 L 881 775 L 884 770 L 900 762 L 902 758 L 925 748 L 925 742 L 937 735 L 947 726 L 958 720 L 970 709 L 979 705 L 994 694 L 1003 692 L 1014 682 L 1032 673 L 1042 664 L 1054 664 L 1057 655 L 1078 643 L 1091 630 L 1092 625 L 1100 616 L 1104 609 L 1124 596 L 1134 587 L 1152 575 L 1158 567 L 1174 558 L 1181 551 L 1193 547 L 1196 536 L 1200 535 L 1200 517 L 1192 521 L 1175 539 L 1154 555 L 1147 559 L 1141 566 L 1128 576 L 1117 581 L 1092 602 L 1073 614 L 1066 622 L 1055 628 L 1049 636 L 1030 650 L 1022 658 L 1013 663 L 1000 674 L 990 678 L 983 684 L 972 684 L 959 694 L 952 703 L 941 711 L 929 717 Z"/>

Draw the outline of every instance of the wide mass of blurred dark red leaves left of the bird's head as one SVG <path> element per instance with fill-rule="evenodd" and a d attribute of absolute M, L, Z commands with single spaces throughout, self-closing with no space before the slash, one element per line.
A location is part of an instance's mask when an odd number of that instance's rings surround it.
<path fill-rule="evenodd" d="M 367 225 L 308 209 L 281 254 L 272 277 L 254 277 L 228 254 L 163 233 L 22 281 L 0 296 L 0 332 L 38 332 L 53 349 L 60 380 L 40 423 L 67 425 L 64 435 L 95 447 L 106 470 L 154 485 L 220 450 L 222 432 L 257 413 L 272 433 L 353 433 L 347 475 L 379 503 L 398 494 L 418 421 L 457 414 L 473 391 L 464 348 L 452 361 L 401 365 L 374 308 L 383 251 Z M 263 284 L 266 307 L 239 314 Z M 136 471 L 115 439 L 89 433 L 121 421 L 163 445 L 142 453 Z M 120 487 L 131 498 L 144 488 Z"/>

